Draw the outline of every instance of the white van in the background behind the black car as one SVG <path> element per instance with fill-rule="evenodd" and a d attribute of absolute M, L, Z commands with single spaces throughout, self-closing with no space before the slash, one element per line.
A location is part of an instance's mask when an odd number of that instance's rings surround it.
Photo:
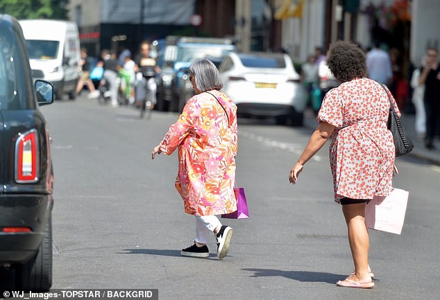
<path fill-rule="evenodd" d="M 76 97 L 81 51 L 78 26 L 71 21 L 33 19 L 19 21 L 31 69 L 41 70 L 51 82 L 57 99 Z"/>

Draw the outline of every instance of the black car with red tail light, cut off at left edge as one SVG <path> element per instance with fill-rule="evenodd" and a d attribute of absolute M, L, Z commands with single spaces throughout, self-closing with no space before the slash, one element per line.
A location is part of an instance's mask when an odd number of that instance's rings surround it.
<path fill-rule="evenodd" d="M 22 28 L 0 15 L 0 267 L 15 269 L 20 290 L 49 290 L 53 168 L 38 105 L 53 102 L 53 87 L 33 74 Z"/>

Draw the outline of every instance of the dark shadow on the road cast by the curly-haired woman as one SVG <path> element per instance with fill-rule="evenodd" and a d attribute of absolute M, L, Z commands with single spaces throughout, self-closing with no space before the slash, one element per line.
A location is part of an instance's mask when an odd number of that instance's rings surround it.
<path fill-rule="evenodd" d="M 282 271 L 273 269 L 243 269 L 244 271 L 254 272 L 252 277 L 269 277 L 282 276 L 301 282 L 325 282 L 337 283 L 337 281 L 345 279 L 345 275 L 332 274 L 325 272 L 308 272 L 308 271 Z"/>

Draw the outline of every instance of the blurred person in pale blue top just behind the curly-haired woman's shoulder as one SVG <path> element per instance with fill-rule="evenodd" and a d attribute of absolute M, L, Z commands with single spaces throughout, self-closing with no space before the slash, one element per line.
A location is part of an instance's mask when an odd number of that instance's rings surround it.
<path fill-rule="evenodd" d="M 391 60 L 388 53 L 380 48 L 379 43 L 376 43 L 375 47 L 366 53 L 366 69 L 368 78 L 384 85 L 391 83 L 393 77 Z"/>

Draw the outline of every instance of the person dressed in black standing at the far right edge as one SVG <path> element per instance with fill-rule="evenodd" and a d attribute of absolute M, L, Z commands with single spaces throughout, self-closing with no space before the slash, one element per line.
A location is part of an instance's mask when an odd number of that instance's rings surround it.
<path fill-rule="evenodd" d="M 421 68 L 419 85 L 425 85 L 423 103 L 426 113 L 426 137 L 425 147 L 434 149 L 434 136 L 440 121 L 440 64 L 437 60 L 436 48 L 428 48 L 426 51 L 425 66 Z"/>

